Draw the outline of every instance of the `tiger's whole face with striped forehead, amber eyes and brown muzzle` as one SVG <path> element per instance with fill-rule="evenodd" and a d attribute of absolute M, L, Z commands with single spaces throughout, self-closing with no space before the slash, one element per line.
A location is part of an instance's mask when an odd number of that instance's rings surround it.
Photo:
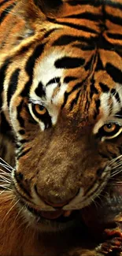
<path fill-rule="evenodd" d="M 13 187 L 24 215 L 50 230 L 74 223 L 100 195 L 122 143 L 122 59 L 109 42 L 113 27 L 107 19 L 102 26 L 101 5 L 92 6 L 96 21 L 82 2 L 64 3 L 9 71 L 18 79 L 9 100 L 17 139 Z M 107 5 L 105 12 L 109 17 Z"/>

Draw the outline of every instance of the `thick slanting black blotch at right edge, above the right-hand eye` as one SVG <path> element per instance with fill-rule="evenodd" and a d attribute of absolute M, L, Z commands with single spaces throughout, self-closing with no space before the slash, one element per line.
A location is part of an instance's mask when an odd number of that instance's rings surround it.
<path fill-rule="evenodd" d="M 109 76 L 112 77 L 113 81 L 116 83 L 122 83 L 122 72 L 120 69 L 117 69 L 110 63 L 105 65 L 105 69 L 108 72 Z"/>

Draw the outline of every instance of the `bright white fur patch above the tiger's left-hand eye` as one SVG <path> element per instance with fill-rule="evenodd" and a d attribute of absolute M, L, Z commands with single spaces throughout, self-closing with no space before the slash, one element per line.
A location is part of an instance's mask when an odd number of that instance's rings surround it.
<path fill-rule="evenodd" d="M 46 107 L 50 117 L 52 118 L 52 124 L 57 123 L 61 102 L 64 98 L 68 85 L 63 83 L 61 84 L 61 87 L 59 87 L 57 81 L 55 81 L 55 83 L 50 83 L 47 86 L 46 84 L 49 83 L 50 80 L 54 80 L 56 77 L 63 77 L 65 70 L 55 68 L 54 63 L 58 58 L 63 58 L 64 56 L 65 53 L 57 52 L 55 50 L 54 52 L 51 52 L 48 57 L 43 58 L 43 60 L 35 66 L 34 79 L 30 91 L 30 98 L 35 102 L 40 102 L 40 105 L 43 104 L 43 106 Z M 35 89 L 38 87 L 40 82 L 43 84 L 43 90 L 46 93 L 46 96 L 42 98 L 39 98 L 39 96 L 35 94 Z M 57 94 L 54 95 L 54 90 L 56 89 L 58 89 Z M 34 115 L 32 114 L 32 116 Z M 44 125 L 42 122 L 40 122 L 40 127 L 42 130 L 44 130 Z"/>

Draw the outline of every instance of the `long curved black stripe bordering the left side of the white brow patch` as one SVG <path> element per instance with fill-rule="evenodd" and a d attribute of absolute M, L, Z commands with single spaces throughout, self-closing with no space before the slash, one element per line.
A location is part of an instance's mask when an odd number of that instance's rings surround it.
<path fill-rule="evenodd" d="M 22 97 L 28 97 L 29 90 L 31 87 L 32 79 L 33 79 L 33 69 L 35 67 L 35 61 L 37 58 L 43 54 L 45 44 L 39 44 L 39 46 L 35 47 L 35 50 L 33 51 L 33 54 L 28 58 L 28 61 L 25 66 L 25 71 L 28 73 L 29 80 L 24 86 L 24 90 L 21 92 Z"/>

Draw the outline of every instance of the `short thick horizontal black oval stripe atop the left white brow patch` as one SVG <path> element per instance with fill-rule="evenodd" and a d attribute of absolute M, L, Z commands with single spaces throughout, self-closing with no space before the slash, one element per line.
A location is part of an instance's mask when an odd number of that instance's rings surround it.
<path fill-rule="evenodd" d="M 76 69 L 84 64 L 83 58 L 63 57 L 55 61 L 54 65 L 57 69 Z"/>

